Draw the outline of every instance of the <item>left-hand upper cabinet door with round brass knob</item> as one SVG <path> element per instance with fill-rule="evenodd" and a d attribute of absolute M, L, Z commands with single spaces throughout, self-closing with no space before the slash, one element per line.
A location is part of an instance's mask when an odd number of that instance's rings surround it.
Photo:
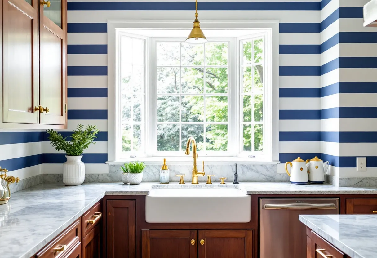
<path fill-rule="evenodd" d="M 37 124 L 38 1 L 3 3 L 3 122 Z"/>

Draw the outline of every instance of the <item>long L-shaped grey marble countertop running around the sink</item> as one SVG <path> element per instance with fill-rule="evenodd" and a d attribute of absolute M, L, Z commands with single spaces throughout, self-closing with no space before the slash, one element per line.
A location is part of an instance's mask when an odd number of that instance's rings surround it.
<path fill-rule="evenodd" d="M 7 258 L 29 258 L 83 215 L 105 195 L 148 195 L 159 187 L 235 187 L 247 194 L 377 194 L 377 187 L 293 185 L 289 182 L 250 182 L 220 185 L 87 183 L 64 186 L 44 183 L 12 193 L 0 205 L 0 253 Z M 376 217 L 377 218 L 377 217 Z"/>

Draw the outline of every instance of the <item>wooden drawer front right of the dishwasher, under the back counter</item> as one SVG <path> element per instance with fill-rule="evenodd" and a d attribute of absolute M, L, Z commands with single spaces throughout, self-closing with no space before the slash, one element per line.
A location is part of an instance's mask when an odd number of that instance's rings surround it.
<path fill-rule="evenodd" d="M 346 199 L 346 214 L 377 214 L 377 198 Z"/>

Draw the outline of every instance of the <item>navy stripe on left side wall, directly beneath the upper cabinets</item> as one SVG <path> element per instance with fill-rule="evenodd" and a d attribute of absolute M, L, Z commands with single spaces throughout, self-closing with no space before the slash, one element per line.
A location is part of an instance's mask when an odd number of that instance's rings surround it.
<path fill-rule="evenodd" d="M 43 132 L 0 132 L 0 144 L 34 143 L 37 141 L 43 141 Z"/>

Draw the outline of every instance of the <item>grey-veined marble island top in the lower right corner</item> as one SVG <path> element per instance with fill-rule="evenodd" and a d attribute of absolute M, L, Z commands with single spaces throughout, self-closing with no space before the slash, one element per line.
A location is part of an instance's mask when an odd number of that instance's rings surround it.
<path fill-rule="evenodd" d="M 299 215 L 299 220 L 351 258 L 375 258 L 377 215 Z"/>

